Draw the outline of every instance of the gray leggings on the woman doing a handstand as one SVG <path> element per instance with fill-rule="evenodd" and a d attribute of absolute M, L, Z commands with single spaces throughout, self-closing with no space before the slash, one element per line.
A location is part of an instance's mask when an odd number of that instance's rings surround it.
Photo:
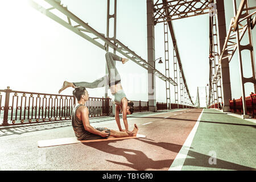
<path fill-rule="evenodd" d="M 75 86 L 83 86 L 85 88 L 99 88 L 106 85 L 115 85 L 121 82 L 121 77 L 115 68 L 114 61 L 122 61 L 122 57 L 119 57 L 111 52 L 106 52 L 106 64 L 108 68 L 108 74 L 101 77 L 93 82 L 73 82 Z"/>

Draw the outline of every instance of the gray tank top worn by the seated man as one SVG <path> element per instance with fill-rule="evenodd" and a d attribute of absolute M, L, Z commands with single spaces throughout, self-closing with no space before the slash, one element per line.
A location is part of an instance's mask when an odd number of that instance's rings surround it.
<path fill-rule="evenodd" d="M 77 106 L 75 106 L 75 108 L 73 107 L 73 111 L 72 111 L 72 127 L 73 127 L 73 130 L 75 131 L 75 135 L 78 140 L 82 140 L 83 138 L 85 138 L 86 134 L 88 133 L 88 131 L 84 129 L 84 125 L 82 124 L 82 121 L 79 120 L 79 118 L 77 118 L 76 116 L 76 110 L 80 106 L 82 105 L 78 104 Z"/>

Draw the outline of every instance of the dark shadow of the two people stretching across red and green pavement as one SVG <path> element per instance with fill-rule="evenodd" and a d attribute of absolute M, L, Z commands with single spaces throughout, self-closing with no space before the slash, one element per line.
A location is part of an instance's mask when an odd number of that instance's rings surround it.
<path fill-rule="evenodd" d="M 154 140 L 151 140 L 148 138 L 138 138 L 137 140 L 154 145 L 154 146 L 162 147 L 166 150 L 176 152 L 176 153 L 178 153 L 182 147 L 181 145 L 174 144 L 174 143 L 154 142 Z M 92 142 L 92 143 L 83 143 L 83 144 L 89 147 L 96 148 L 97 150 L 106 152 L 108 154 L 123 156 L 127 159 L 127 162 L 129 163 L 122 163 L 122 162 L 113 161 L 113 160 L 106 160 L 106 161 L 114 164 L 119 164 L 122 166 L 127 166 L 140 171 L 142 170 L 144 171 L 146 169 L 170 168 L 172 162 L 174 161 L 172 159 L 152 160 L 148 158 L 142 151 L 131 150 L 127 148 L 118 148 L 110 145 L 110 143 L 118 142 L 118 141 L 109 140 L 104 142 Z M 190 148 L 193 149 L 192 147 Z M 189 147 L 185 149 L 189 150 Z M 242 166 L 240 164 L 227 162 L 221 159 L 216 159 L 216 164 L 209 164 L 209 158 L 211 158 L 212 156 L 200 154 L 199 152 L 195 152 L 192 150 L 189 150 L 187 155 L 191 156 L 192 158 L 185 159 L 183 166 L 198 166 L 198 167 L 232 169 L 232 170 L 255 170 L 255 168 Z"/>

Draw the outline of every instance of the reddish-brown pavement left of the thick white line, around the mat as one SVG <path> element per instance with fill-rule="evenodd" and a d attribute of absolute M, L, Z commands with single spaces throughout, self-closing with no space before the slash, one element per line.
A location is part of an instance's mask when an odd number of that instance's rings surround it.
<path fill-rule="evenodd" d="M 201 111 L 184 109 L 131 115 L 129 129 L 136 123 L 138 133 L 146 138 L 45 148 L 39 148 L 37 141 L 74 137 L 71 122 L 0 129 L 0 169 L 168 170 Z M 92 126 L 118 129 L 114 120 L 92 122 Z"/>

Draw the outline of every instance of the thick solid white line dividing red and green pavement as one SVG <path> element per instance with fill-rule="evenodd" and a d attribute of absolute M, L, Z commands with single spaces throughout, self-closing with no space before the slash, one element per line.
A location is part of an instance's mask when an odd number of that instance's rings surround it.
<path fill-rule="evenodd" d="M 203 115 L 204 109 L 199 115 L 199 118 L 197 119 L 197 122 L 193 129 L 191 130 L 191 133 L 188 135 L 188 138 L 185 140 L 185 143 L 181 147 L 179 154 L 177 154 L 176 158 L 174 159 L 174 162 L 170 166 L 168 171 L 181 171 L 183 164 L 185 162 L 185 159 L 187 158 L 189 148 L 191 147 L 191 143 L 193 141 L 193 138 L 195 137 L 196 130 L 199 126 L 199 122 L 201 119 L 201 116 Z"/>

